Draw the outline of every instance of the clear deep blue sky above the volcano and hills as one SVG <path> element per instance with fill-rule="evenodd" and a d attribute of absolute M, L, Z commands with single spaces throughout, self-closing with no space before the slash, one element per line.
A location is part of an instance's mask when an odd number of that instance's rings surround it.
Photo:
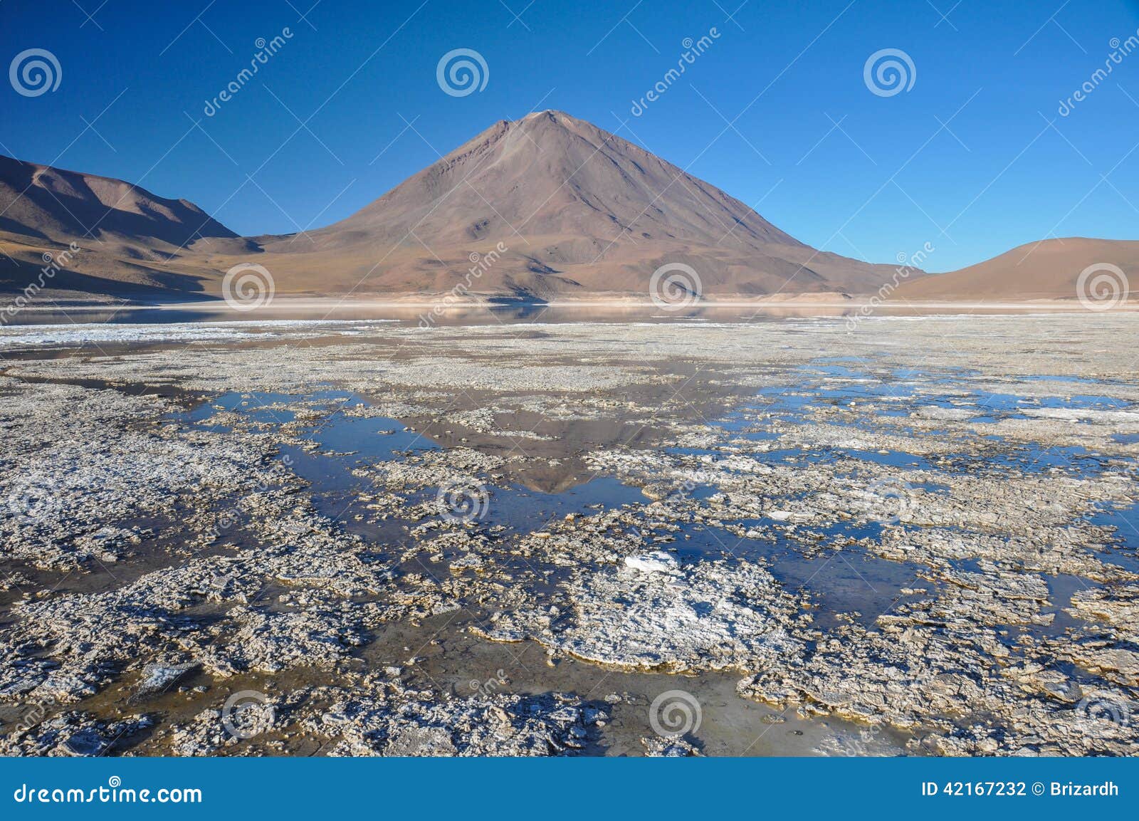
<path fill-rule="evenodd" d="M 875 262 L 927 241 L 940 271 L 1044 236 L 1139 237 L 1139 50 L 1057 110 L 1113 38 L 1136 34 L 1139 2 L 314 1 L 5 0 L 2 65 L 42 48 L 62 80 L 38 97 L 0 84 L 0 151 L 281 233 L 351 214 L 436 159 L 432 146 L 558 108 L 803 241 Z M 683 40 L 713 26 L 719 39 L 631 116 Z M 285 27 L 292 39 L 206 117 L 257 38 Z M 457 48 L 484 57 L 482 91 L 440 89 Z M 887 48 L 916 76 L 882 97 L 863 66 Z"/>

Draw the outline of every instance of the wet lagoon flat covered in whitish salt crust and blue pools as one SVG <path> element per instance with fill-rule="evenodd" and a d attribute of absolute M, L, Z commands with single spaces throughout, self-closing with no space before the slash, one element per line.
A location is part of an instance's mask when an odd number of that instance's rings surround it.
<path fill-rule="evenodd" d="M 1133 322 L 0 329 L 0 752 L 1133 753 Z"/>

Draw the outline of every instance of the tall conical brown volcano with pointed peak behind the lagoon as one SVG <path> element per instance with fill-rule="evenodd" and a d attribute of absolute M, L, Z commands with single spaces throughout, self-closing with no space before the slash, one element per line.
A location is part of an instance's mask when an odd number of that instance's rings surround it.
<path fill-rule="evenodd" d="M 866 292 L 893 269 L 821 253 L 737 199 L 560 112 L 501 121 L 346 220 L 256 238 L 278 290 L 645 295 L 685 263 L 715 295 Z M 228 260 L 219 257 L 216 263 Z M 313 271 L 320 271 L 319 278 Z"/>

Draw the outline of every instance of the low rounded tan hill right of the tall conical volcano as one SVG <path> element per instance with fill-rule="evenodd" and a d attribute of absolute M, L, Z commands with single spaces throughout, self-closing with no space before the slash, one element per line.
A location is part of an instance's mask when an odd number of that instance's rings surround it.
<path fill-rule="evenodd" d="M 1081 272 L 1099 263 L 1121 269 L 1129 280 L 1130 293 L 1139 297 L 1139 241 L 1083 237 L 1030 243 L 959 271 L 910 280 L 898 289 L 896 297 L 986 302 L 1076 299 Z M 1107 280 L 1104 284 L 1108 285 Z"/>

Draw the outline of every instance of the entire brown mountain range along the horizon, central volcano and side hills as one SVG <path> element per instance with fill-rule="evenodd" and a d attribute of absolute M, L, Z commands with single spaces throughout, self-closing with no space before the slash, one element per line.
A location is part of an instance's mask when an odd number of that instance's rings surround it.
<path fill-rule="evenodd" d="M 271 272 L 280 294 L 360 297 L 465 286 L 487 297 L 644 298 L 666 263 L 690 265 L 702 292 L 721 298 L 870 294 L 898 279 L 893 265 L 814 251 L 560 112 L 498 122 L 352 216 L 287 236 L 237 237 L 185 199 L 0 157 L 0 290 L 40 278 L 43 255 L 58 258 L 68 243 L 82 251 L 52 287 L 162 299 L 216 296 L 224 272 L 249 262 Z M 1095 263 L 1121 268 L 1139 295 L 1139 241 L 1077 238 L 944 274 L 910 269 L 894 298 L 1074 299 L 1080 272 Z"/>

